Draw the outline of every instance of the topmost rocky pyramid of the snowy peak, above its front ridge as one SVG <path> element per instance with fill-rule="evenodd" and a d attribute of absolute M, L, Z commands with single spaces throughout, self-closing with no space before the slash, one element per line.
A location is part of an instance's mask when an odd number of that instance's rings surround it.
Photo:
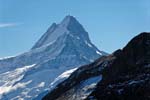
<path fill-rule="evenodd" d="M 70 34 L 83 41 L 90 42 L 88 33 L 84 30 L 83 26 L 75 19 L 75 17 L 68 15 L 60 24 L 53 23 L 32 49 L 50 44 L 64 34 Z"/>

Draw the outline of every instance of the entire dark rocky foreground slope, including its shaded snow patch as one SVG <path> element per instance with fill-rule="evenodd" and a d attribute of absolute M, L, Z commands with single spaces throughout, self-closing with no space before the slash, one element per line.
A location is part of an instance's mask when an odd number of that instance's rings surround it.
<path fill-rule="evenodd" d="M 84 84 L 91 78 L 101 77 Z M 91 85 L 93 87 L 91 87 Z M 82 91 L 82 92 L 81 92 Z M 43 100 L 150 100 L 150 33 L 78 68 Z"/>

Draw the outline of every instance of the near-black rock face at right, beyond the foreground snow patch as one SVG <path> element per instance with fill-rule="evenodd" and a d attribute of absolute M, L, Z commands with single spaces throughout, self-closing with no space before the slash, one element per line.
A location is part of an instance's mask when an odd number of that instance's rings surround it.
<path fill-rule="evenodd" d="M 150 100 L 150 33 L 136 36 L 114 56 L 87 100 Z"/>

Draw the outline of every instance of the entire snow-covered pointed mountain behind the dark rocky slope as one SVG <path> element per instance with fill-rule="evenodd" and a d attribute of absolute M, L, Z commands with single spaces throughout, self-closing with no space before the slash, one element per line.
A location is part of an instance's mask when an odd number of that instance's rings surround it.
<path fill-rule="evenodd" d="M 41 98 L 79 66 L 106 53 L 98 50 L 73 17 L 53 23 L 31 50 L 0 60 L 0 99 Z M 40 97 L 37 97 L 40 94 Z"/>

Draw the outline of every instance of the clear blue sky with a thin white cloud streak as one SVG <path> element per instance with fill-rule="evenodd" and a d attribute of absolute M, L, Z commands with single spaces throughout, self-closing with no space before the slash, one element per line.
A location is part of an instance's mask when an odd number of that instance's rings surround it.
<path fill-rule="evenodd" d="M 150 31 L 150 0 L 0 0 L 0 57 L 29 50 L 68 14 L 108 53 Z"/>

